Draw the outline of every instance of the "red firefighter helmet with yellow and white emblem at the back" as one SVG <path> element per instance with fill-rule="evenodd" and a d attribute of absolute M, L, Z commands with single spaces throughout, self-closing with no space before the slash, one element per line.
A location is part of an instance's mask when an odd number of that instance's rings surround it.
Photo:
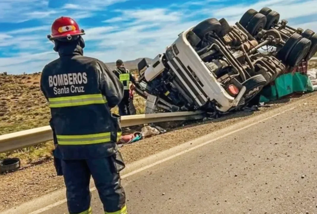
<path fill-rule="evenodd" d="M 72 39 L 72 36 L 84 35 L 84 30 L 80 29 L 76 21 L 69 17 L 60 17 L 52 24 L 52 34 L 48 35 L 49 40 L 67 38 Z"/>

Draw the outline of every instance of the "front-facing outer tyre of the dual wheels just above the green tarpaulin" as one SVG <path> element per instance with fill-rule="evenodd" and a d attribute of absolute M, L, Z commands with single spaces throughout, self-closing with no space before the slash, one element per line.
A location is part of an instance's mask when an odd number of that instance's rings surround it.
<path fill-rule="evenodd" d="M 289 53 L 287 64 L 291 67 L 297 66 L 301 60 L 307 55 L 312 42 L 306 38 L 302 38 Z"/>

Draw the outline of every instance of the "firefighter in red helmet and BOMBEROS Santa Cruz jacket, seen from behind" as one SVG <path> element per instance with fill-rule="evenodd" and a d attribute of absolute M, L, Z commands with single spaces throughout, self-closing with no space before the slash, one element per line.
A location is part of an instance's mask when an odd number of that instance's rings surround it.
<path fill-rule="evenodd" d="M 69 17 L 52 25 L 49 40 L 59 58 L 47 64 L 41 90 L 49 101 L 54 164 L 64 176 L 69 213 L 91 214 L 92 176 L 105 213 L 127 214 L 116 145 L 120 118 L 110 108 L 123 97 L 123 84 L 101 61 L 83 56 L 84 31 Z"/>

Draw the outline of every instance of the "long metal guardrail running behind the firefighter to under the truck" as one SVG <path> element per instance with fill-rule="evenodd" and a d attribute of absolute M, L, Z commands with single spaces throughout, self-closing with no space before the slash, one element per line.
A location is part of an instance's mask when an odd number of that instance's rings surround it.
<path fill-rule="evenodd" d="M 201 111 L 129 115 L 121 117 L 121 127 L 165 121 L 202 119 L 203 117 Z M 53 140 L 52 129 L 49 125 L 0 135 L 0 153 L 34 146 L 49 140 Z"/>

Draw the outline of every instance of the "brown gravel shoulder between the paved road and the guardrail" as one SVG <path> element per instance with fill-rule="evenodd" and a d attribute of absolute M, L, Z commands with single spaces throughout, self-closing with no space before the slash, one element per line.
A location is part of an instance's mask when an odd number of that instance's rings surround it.
<path fill-rule="evenodd" d="M 307 103 L 317 103 L 317 94 L 312 93 L 299 98 L 283 99 L 271 107 L 262 107 L 260 111 L 256 112 L 238 112 L 212 121 L 185 125 L 181 129 L 170 130 L 165 134 L 125 145 L 121 148 L 121 152 L 126 163 L 131 163 L 249 117 L 281 107 L 286 103 L 302 99 L 305 99 Z M 170 123 L 169 126 L 172 125 L 173 123 Z M 0 180 L 0 211 L 64 187 L 63 178 L 55 175 L 52 160 L 26 167 L 14 173 L 0 175 Z"/>

